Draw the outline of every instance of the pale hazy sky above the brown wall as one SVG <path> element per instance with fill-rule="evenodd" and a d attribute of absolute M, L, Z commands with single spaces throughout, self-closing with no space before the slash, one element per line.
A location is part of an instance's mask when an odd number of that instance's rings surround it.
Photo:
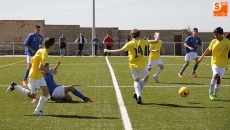
<path fill-rule="evenodd" d="M 49 25 L 92 27 L 93 0 L 1 0 L 0 20 L 45 20 Z M 228 1 L 228 0 L 225 0 Z M 120 30 L 184 29 L 230 31 L 228 17 L 213 17 L 215 0 L 95 0 L 96 27 Z M 221 1 L 220 1 L 221 2 Z"/>

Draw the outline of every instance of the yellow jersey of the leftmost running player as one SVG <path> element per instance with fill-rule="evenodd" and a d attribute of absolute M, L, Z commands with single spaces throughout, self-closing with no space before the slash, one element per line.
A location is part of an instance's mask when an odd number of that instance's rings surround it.
<path fill-rule="evenodd" d="M 45 66 L 48 59 L 48 52 L 46 49 L 39 49 L 36 54 L 31 58 L 31 69 L 29 77 L 40 80 L 42 78 L 42 71 L 39 69 L 39 65 Z"/>

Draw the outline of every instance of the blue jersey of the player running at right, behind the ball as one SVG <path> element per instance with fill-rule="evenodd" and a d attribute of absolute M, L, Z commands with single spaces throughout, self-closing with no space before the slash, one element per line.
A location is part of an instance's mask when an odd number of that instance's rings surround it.
<path fill-rule="evenodd" d="M 200 37 L 198 37 L 198 36 L 196 36 L 195 38 L 193 38 L 192 36 L 187 37 L 187 38 L 185 39 L 185 43 L 186 43 L 188 46 L 194 48 L 194 50 L 190 50 L 189 48 L 186 47 L 186 48 L 185 48 L 186 54 L 189 53 L 189 52 L 196 52 L 197 47 L 194 46 L 195 44 L 196 44 L 196 45 L 202 45 L 202 44 L 201 44 L 201 39 L 200 39 Z"/>

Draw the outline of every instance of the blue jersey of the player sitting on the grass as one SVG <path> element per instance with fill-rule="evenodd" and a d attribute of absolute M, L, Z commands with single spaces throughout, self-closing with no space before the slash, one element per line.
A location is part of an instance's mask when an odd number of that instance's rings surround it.
<path fill-rule="evenodd" d="M 46 85 L 49 89 L 49 94 L 52 95 L 54 89 L 56 87 L 58 87 L 58 85 L 55 83 L 54 79 L 53 79 L 53 75 L 51 73 L 46 73 L 45 75 L 45 81 L 46 81 Z"/>

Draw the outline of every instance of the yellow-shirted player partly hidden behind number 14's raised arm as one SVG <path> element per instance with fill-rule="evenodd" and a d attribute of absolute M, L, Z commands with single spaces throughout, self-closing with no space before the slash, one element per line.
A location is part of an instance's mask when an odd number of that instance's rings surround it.
<path fill-rule="evenodd" d="M 154 36 L 155 37 L 155 36 Z M 159 40 L 157 44 L 151 44 L 149 46 L 149 63 L 148 63 L 148 70 L 151 71 L 152 67 L 159 66 L 157 72 L 153 75 L 153 78 L 158 83 L 158 75 L 164 68 L 163 61 L 160 58 L 160 53 L 164 54 L 165 50 L 162 47 L 162 41 Z"/>

